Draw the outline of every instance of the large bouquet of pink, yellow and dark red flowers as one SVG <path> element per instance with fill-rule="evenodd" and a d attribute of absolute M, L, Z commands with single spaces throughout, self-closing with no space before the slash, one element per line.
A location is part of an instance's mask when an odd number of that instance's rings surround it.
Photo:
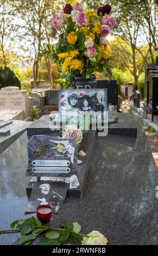
<path fill-rule="evenodd" d="M 67 78 L 72 82 L 73 76 L 89 79 L 94 71 L 109 70 L 110 48 L 106 36 L 116 25 L 110 16 L 111 6 L 84 11 L 83 4 L 74 7 L 66 4 L 61 14 L 50 18 L 49 35 L 58 37 L 51 54 L 60 64 Z"/>

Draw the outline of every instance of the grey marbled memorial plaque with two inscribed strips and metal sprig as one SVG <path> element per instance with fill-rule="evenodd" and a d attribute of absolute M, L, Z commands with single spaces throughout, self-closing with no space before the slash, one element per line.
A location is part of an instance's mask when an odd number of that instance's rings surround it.
<path fill-rule="evenodd" d="M 27 176 L 70 177 L 77 173 L 79 144 L 73 138 L 32 136 L 27 143 Z"/>

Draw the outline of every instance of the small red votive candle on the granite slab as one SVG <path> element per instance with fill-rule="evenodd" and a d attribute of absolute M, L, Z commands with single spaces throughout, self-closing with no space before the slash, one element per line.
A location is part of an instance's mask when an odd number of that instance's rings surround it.
<path fill-rule="evenodd" d="M 42 204 L 37 207 L 36 215 L 41 222 L 47 223 L 52 215 L 52 208 L 49 205 Z"/>

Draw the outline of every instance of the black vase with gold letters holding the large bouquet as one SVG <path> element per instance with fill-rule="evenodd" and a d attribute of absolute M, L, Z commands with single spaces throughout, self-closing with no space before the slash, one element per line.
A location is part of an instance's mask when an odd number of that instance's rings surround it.
<path fill-rule="evenodd" d="M 72 81 L 73 89 L 93 89 L 97 88 L 96 75 L 92 75 L 91 78 L 86 79 L 83 76 L 74 76 Z"/>

